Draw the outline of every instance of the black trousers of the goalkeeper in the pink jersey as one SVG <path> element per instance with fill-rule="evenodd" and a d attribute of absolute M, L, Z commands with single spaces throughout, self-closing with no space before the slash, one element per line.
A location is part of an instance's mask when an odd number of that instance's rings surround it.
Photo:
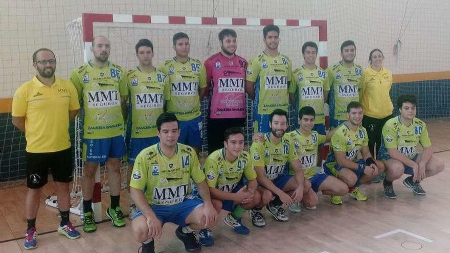
<path fill-rule="evenodd" d="M 223 148 L 223 132 L 230 127 L 244 127 L 245 119 L 208 119 L 208 154 Z"/>

